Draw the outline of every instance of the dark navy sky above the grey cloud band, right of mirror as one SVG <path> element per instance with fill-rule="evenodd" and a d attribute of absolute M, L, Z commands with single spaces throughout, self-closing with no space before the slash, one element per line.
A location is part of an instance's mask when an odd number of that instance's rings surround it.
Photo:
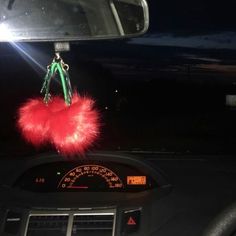
<path fill-rule="evenodd" d="M 183 35 L 235 31 L 235 1 L 149 0 L 150 32 Z"/>

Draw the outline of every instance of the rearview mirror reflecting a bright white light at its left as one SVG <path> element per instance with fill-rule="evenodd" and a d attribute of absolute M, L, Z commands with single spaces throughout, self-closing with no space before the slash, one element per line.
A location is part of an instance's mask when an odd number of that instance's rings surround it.
<path fill-rule="evenodd" d="M 0 0 L 0 42 L 123 38 L 148 24 L 146 0 Z"/>

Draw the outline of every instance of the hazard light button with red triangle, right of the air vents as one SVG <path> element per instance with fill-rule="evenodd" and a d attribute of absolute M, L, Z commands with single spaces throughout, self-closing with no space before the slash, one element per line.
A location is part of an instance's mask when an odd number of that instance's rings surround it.
<path fill-rule="evenodd" d="M 141 210 L 129 210 L 123 212 L 123 235 L 135 233 L 139 230 Z"/>

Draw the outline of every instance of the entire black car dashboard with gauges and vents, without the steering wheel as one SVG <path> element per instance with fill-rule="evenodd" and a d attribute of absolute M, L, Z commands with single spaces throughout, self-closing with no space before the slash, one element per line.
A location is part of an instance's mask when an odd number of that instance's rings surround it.
<path fill-rule="evenodd" d="M 198 236 L 236 198 L 225 157 L 42 154 L 0 169 L 3 236 Z"/>

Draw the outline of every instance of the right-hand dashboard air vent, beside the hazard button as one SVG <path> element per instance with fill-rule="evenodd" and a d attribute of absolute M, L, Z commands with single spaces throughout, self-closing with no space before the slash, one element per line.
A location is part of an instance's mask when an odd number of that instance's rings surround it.
<path fill-rule="evenodd" d="M 72 236 L 112 236 L 114 214 L 74 215 Z"/>

